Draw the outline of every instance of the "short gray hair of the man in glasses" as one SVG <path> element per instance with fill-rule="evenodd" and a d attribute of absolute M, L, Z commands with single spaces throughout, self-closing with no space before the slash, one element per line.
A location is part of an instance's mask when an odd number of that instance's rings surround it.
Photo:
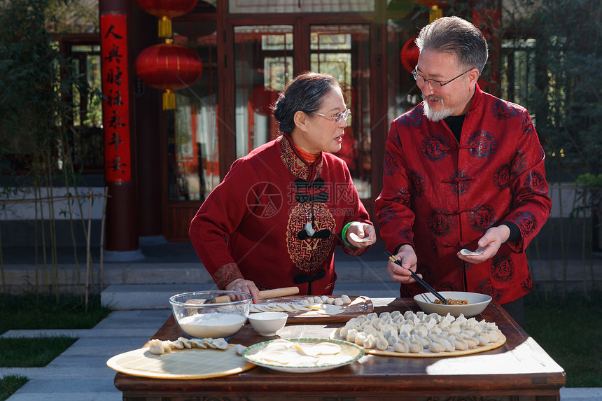
<path fill-rule="evenodd" d="M 455 55 L 458 64 L 483 72 L 489 46 L 482 32 L 461 17 L 442 17 L 426 25 L 416 38 L 416 46 Z"/>

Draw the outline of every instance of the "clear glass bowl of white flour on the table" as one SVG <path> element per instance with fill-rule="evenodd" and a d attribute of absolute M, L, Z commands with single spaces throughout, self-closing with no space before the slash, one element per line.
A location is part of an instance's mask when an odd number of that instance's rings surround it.
<path fill-rule="evenodd" d="M 227 295 L 230 302 L 210 303 Z M 190 337 L 226 338 L 242 328 L 253 297 L 237 291 L 196 291 L 169 298 L 176 323 Z"/>

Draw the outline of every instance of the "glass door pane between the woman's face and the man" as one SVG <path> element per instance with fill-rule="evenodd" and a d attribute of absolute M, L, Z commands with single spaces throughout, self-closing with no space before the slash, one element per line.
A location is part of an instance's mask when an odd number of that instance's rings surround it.
<path fill-rule="evenodd" d="M 337 78 L 351 117 L 341 150 L 360 198 L 372 197 L 372 127 L 370 122 L 370 27 L 311 26 L 311 71 Z"/>

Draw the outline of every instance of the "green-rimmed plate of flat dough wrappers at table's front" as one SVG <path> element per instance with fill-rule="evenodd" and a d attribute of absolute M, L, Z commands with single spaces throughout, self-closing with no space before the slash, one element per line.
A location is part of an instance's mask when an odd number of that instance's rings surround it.
<path fill-rule="evenodd" d="M 287 373 L 316 373 L 349 365 L 364 356 L 362 347 L 339 339 L 274 339 L 249 346 L 250 363 Z"/>

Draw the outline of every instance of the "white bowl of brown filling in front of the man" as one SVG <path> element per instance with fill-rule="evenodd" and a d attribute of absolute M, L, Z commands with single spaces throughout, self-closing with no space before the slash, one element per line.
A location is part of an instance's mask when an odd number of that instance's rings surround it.
<path fill-rule="evenodd" d="M 433 302 L 438 298 L 431 293 L 423 293 L 414 296 L 416 304 L 425 311 L 427 314 L 439 314 L 445 316 L 448 313 L 451 316 L 458 317 L 463 314 L 467 318 L 477 316 L 489 305 L 491 297 L 485 294 L 477 293 L 463 293 L 461 291 L 439 291 L 444 298 L 450 298 L 451 300 L 467 300 L 468 305 L 444 305 L 434 304 Z"/>

